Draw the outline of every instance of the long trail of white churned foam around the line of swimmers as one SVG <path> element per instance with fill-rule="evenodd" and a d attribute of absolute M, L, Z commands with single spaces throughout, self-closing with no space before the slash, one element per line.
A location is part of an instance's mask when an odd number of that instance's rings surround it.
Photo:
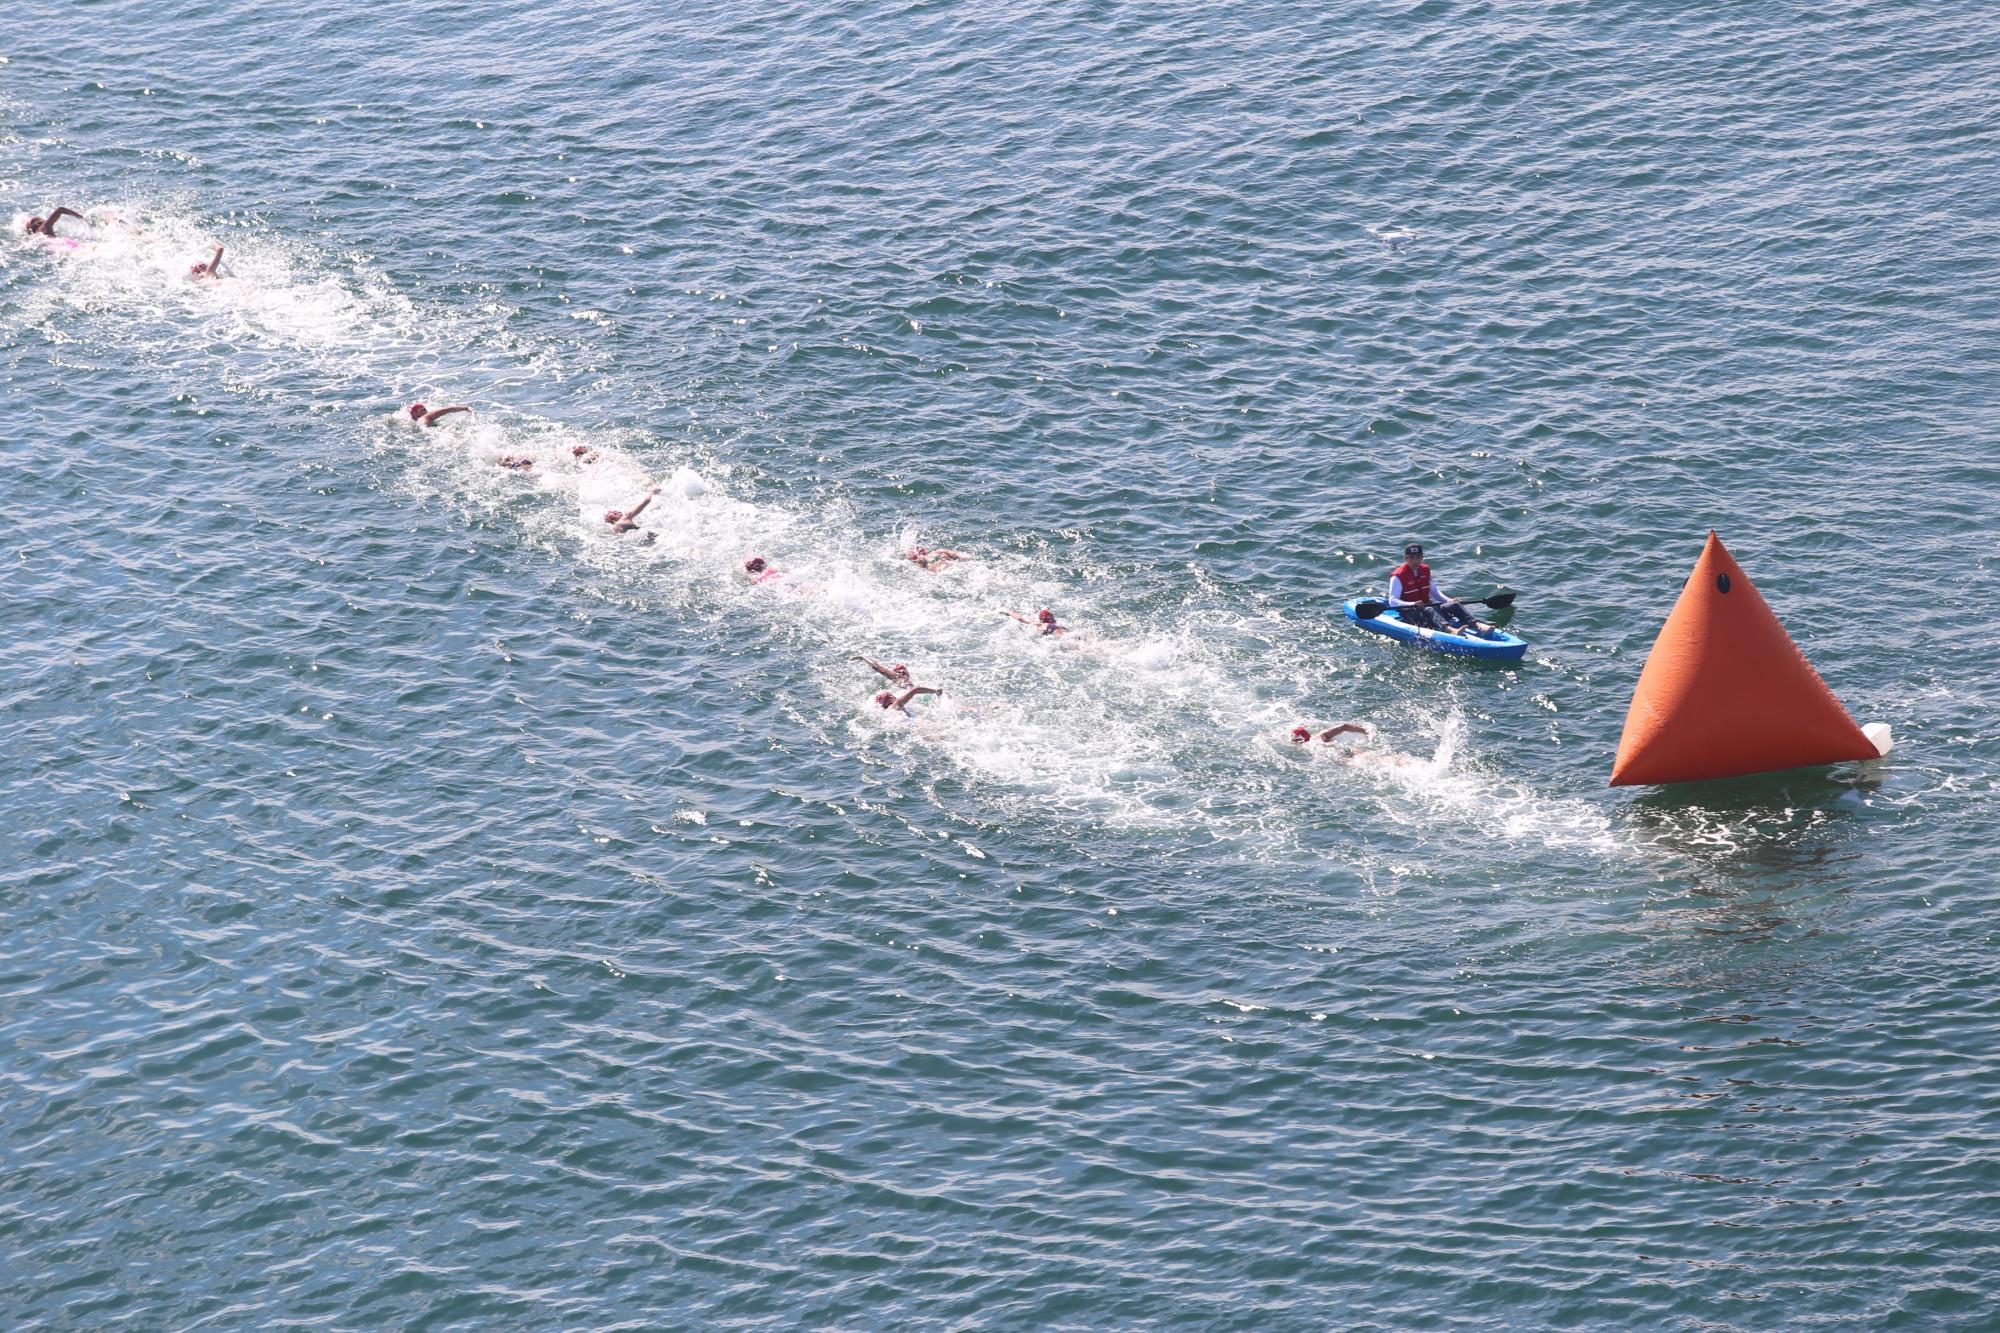
<path fill-rule="evenodd" d="M 926 572 L 904 558 L 926 540 L 916 526 L 856 516 L 832 498 L 760 498 L 754 478 L 700 442 L 486 408 L 422 428 L 386 414 L 384 394 L 434 404 L 546 394 L 564 348 L 510 332 L 506 308 L 426 306 L 360 256 L 326 256 L 254 226 L 226 228 L 224 280 L 194 282 L 188 264 L 206 258 L 218 232 L 192 210 L 122 204 L 88 218 L 88 234 L 64 246 L 22 238 L 16 220 L 6 264 L 38 276 L 14 322 L 58 330 L 84 318 L 122 354 L 210 374 L 274 406 L 324 414 L 346 404 L 344 420 L 396 486 L 564 552 L 600 594 L 616 588 L 718 624 L 764 626 L 818 658 L 824 733 L 844 733 L 862 755 L 894 755 L 912 773 L 942 763 L 1006 819 L 1200 829 L 1276 857 L 1360 807 L 1418 843 L 1434 825 L 1476 819 L 1530 847 L 1630 849 L 1600 807 L 1470 763 L 1456 709 L 1428 757 L 1340 761 L 1292 747 L 1284 733 L 1294 723 L 1340 721 L 1326 717 L 1330 701 L 1352 699 L 1356 681 L 1380 685 L 1386 671 L 1358 648 L 1316 650 L 1316 624 L 1230 596 L 1200 570 L 1078 578 L 1048 554 L 968 550 L 952 532 L 936 540 L 970 558 Z M 430 398 L 440 386 L 452 396 Z M 614 532 L 606 514 L 654 490 L 638 530 Z M 752 554 L 782 576 L 752 582 L 742 570 Z M 1040 638 L 1000 614 L 1040 606 L 1074 632 Z M 844 660 L 854 652 L 908 662 L 944 695 L 914 703 L 910 717 L 884 713 L 872 703 L 884 681 Z"/>

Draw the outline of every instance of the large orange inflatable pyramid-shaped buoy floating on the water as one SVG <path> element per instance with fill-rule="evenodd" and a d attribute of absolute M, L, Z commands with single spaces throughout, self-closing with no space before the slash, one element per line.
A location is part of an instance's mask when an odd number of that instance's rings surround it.
<path fill-rule="evenodd" d="M 1710 532 L 1652 642 L 1612 761 L 1612 787 L 1698 783 L 1876 759 L 1756 584 Z"/>

